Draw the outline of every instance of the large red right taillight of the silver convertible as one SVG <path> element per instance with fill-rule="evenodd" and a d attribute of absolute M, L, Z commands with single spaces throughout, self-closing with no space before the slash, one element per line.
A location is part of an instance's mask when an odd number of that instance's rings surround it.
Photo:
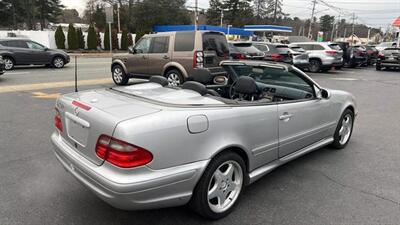
<path fill-rule="evenodd" d="M 143 166 L 153 160 L 153 155 L 146 149 L 107 135 L 101 135 L 97 140 L 96 154 L 101 159 L 122 168 Z"/>

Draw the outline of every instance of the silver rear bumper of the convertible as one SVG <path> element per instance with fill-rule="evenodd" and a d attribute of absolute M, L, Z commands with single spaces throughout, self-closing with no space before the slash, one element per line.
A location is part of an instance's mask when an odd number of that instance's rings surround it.
<path fill-rule="evenodd" d="M 124 210 L 186 204 L 209 160 L 152 170 L 147 166 L 119 169 L 104 162 L 97 166 L 72 149 L 58 132 L 51 136 L 54 153 L 63 167 L 98 197 Z"/>

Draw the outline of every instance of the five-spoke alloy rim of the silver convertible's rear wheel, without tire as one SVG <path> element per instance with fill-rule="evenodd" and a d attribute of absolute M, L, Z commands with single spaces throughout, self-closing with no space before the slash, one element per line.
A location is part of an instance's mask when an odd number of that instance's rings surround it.
<path fill-rule="evenodd" d="M 215 213 L 231 208 L 239 197 L 243 186 L 243 171 L 236 161 L 221 164 L 208 185 L 208 205 Z"/>

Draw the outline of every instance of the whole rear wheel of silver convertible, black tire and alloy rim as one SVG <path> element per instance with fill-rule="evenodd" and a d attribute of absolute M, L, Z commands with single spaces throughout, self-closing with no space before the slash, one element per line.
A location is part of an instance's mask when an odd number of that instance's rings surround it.
<path fill-rule="evenodd" d="M 208 219 L 227 216 L 243 190 L 245 173 L 245 163 L 238 154 L 226 152 L 216 156 L 193 191 L 192 209 Z"/>

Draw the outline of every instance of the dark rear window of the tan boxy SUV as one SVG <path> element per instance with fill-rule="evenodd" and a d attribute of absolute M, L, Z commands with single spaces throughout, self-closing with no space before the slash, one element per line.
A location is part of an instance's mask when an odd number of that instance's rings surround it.
<path fill-rule="evenodd" d="M 228 55 L 229 47 L 225 35 L 219 33 L 204 33 L 203 50 L 215 51 L 220 57 Z"/>

